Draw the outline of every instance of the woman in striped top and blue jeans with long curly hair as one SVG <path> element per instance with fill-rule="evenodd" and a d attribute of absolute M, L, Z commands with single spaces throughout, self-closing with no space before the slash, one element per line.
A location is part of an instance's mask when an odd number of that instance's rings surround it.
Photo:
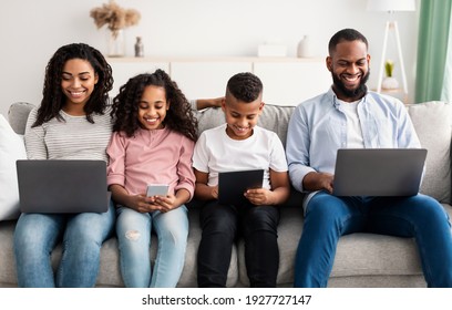
<path fill-rule="evenodd" d="M 112 69 L 97 50 L 82 43 L 60 48 L 47 65 L 41 105 L 28 118 L 28 157 L 106 161 L 112 85 Z M 114 219 L 113 205 L 103 214 L 22 214 L 14 231 L 19 286 L 93 287 Z M 54 277 L 50 254 L 61 239 Z"/>

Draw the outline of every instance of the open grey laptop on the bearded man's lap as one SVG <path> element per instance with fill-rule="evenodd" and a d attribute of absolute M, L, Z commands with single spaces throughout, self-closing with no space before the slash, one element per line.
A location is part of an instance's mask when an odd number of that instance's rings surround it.
<path fill-rule="evenodd" d="M 425 148 L 341 148 L 336 196 L 413 196 L 419 193 Z"/>

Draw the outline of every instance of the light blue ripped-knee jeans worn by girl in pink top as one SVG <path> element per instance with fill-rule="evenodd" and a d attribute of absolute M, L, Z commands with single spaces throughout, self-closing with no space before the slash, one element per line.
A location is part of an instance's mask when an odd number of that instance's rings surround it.
<path fill-rule="evenodd" d="M 119 206 L 116 213 L 116 235 L 124 285 L 127 288 L 176 287 L 185 262 L 187 208 L 182 205 L 168 213 L 141 214 Z M 153 272 L 150 257 L 152 229 L 158 238 Z"/>

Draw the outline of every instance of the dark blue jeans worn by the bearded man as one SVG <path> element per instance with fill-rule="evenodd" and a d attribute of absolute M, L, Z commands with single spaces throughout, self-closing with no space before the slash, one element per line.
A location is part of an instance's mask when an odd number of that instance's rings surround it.
<path fill-rule="evenodd" d="M 452 234 L 448 214 L 432 197 L 315 195 L 298 245 L 295 287 L 326 287 L 339 237 L 352 232 L 413 237 L 429 287 L 452 287 Z"/>

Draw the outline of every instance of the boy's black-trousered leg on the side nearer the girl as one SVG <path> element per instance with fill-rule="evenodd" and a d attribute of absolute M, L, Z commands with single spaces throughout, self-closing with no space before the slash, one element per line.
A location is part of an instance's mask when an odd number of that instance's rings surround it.
<path fill-rule="evenodd" d="M 203 235 L 197 256 L 198 286 L 225 287 L 237 234 L 237 211 L 212 202 L 202 208 L 199 218 Z"/>

